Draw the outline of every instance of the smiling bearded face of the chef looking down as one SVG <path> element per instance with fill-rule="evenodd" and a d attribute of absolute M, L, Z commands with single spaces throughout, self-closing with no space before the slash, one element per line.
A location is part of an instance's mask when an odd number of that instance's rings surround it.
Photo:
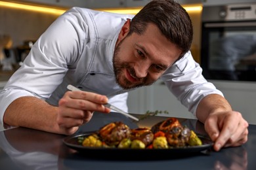
<path fill-rule="evenodd" d="M 181 55 L 156 25 L 149 24 L 142 35 L 126 35 L 119 35 L 113 59 L 116 81 L 123 89 L 154 83 Z"/>

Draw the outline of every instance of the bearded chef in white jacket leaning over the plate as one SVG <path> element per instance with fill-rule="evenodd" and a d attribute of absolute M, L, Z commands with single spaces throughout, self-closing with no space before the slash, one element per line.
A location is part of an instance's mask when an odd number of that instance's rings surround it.
<path fill-rule="evenodd" d="M 70 135 L 95 111 L 110 112 L 105 103 L 127 111 L 127 92 L 161 79 L 205 124 L 215 150 L 244 144 L 247 121 L 203 78 L 189 51 L 192 35 L 186 10 L 171 0 L 150 1 L 135 16 L 74 7 L 1 91 L 1 125 Z"/>

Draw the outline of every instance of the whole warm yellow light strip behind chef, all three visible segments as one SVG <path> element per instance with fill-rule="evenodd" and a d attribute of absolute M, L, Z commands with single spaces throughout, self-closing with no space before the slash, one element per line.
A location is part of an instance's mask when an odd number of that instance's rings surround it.
<path fill-rule="evenodd" d="M 47 12 L 51 14 L 63 14 L 66 10 L 61 10 L 61 9 L 54 9 L 50 7 L 38 7 L 38 6 L 33 6 L 33 5 L 24 5 L 20 3 L 10 3 L 6 1 L 0 1 L 0 6 L 2 7 L 11 7 L 14 9 L 24 9 L 24 10 L 33 10 L 37 12 Z M 142 7 L 141 7 L 142 8 Z M 138 9 L 98 9 L 106 12 L 113 12 L 113 13 L 119 13 L 119 14 L 137 14 L 141 8 Z M 184 6 L 184 9 L 188 12 L 200 12 L 202 10 L 202 6 L 197 5 L 197 6 Z"/>

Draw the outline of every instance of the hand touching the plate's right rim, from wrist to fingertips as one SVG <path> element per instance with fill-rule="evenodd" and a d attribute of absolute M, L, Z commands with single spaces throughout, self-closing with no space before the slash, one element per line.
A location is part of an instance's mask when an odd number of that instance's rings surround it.
<path fill-rule="evenodd" d="M 236 111 L 214 112 L 205 120 L 207 131 L 213 148 L 218 151 L 223 146 L 240 146 L 247 141 L 248 123 L 242 118 L 242 114 Z"/>

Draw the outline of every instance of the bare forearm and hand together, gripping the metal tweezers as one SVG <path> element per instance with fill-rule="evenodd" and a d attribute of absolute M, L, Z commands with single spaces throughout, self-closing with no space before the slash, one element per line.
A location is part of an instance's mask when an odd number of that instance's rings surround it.
<path fill-rule="evenodd" d="M 59 101 L 59 107 L 37 97 L 25 96 L 9 105 L 3 121 L 7 126 L 71 135 L 81 124 L 91 120 L 94 111 L 110 112 L 103 105 L 107 102 L 108 98 L 104 95 L 82 91 L 66 92 Z"/>

